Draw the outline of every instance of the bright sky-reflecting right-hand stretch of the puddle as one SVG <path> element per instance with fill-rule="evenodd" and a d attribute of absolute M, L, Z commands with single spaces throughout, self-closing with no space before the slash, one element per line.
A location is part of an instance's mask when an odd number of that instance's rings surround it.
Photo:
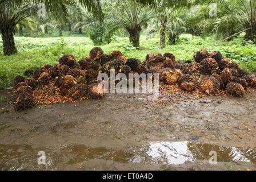
<path fill-rule="evenodd" d="M 256 163 L 256 151 L 250 148 L 222 147 L 197 142 L 156 142 L 147 147 L 151 163 L 183 164 L 195 160 L 209 160 L 210 151 L 217 152 L 218 162 Z"/>

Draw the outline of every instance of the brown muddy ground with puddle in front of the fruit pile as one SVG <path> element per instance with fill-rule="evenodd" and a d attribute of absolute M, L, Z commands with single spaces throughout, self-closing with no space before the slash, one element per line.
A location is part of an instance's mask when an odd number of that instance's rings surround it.
<path fill-rule="evenodd" d="M 244 98 L 184 97 L 160 105 L 145 95 L 108 94 L 102 100 L 41 105 L 25 111 L 12 108 L 10 90 L 2 90 L 0 98 L 0 170 L 256 169 L 255 92 Z M 185 150 L 197 151 L 199 157 L 184 160 L 179 156 L 181 160 L 172 163 L 159 152 L 151 155 L 155 142 L 178 142 L 174 146 L 185 142 Z M 194 147 L 187 147 L 190 142 Z M 213 146 L 219 152 L 229 148 L 217 165 L 207 161 Z M 246 155 L 239 155 L 250 162 L 232 158 L 230 146 L 243 148 Z M 46 165 L 37 164 L 40 150 L 46 153 Z"/>

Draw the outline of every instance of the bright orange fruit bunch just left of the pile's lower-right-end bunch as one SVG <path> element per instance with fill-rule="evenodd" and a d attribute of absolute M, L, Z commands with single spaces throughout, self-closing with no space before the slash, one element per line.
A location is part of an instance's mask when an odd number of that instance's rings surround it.
<path fill-rule="evenodd" d="M 199 88 L 202 90 L 203 93 L 208 95 L 215 94 L 220 87 L 219 81 L 215 77 L 203 77 L 199 83 Z"/>

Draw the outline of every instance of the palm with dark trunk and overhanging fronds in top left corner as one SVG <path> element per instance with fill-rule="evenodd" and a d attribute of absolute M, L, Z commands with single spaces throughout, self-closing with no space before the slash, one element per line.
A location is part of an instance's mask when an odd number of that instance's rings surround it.
<path fill-rule="evenodd" d="M 46 10 L 61 23 L 68 22 L 67 5 L 79 3 L 99 19 L 103 19 L 99 0 L 0 0 L 0 31 L 5 55 L 17 53 L 14 43 L 15 26 L 23 19 L 36 15 L 37 3 L 45 3 Z"/>

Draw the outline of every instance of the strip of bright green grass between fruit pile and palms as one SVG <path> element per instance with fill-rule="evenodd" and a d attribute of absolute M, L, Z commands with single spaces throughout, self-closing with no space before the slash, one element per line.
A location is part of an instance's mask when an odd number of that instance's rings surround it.
<path fill-rule="evenodd" d="M 68 32 L 63 32 L 63 34 L 69 36 Z M 220 42 L 211 37 L 202 39 L 184 34 L 175 46 L 159 49 L 159 37 L 146 40 L 145 36 L 141 36 L 141 48 L 135 49 L 130 45 L 129 38 L 115 36 L 113 42 L 101 48 L 105 53 L 119 49 L 126 57 L 136 57 L 141 61 L 145 60 L 147 53 L 150 52 L 171 52 L 177 60 L 192 60 L 195 51 L 206 48 L 209 51 L 221 51 L 223 56 L 237 61 L 241 67 L 250 72 L 256 72 L 256 46 L 250 43 L 242 45 L 242 40 L 242 35 L 231 42 Z M 3 56 L 0 40 L 0 88 L 11 86 L 14 77 L 23 75 L 26 69 L 38 68 L 44 63 L 56 64 L 59 57 L 65 54 L 72 54 L 79 60 L 89 55 L 90 49 L 94 47 L 89 38 L 74 34 L 63 38 L 15 37 L 15 42 L 19 53 Z"/>

